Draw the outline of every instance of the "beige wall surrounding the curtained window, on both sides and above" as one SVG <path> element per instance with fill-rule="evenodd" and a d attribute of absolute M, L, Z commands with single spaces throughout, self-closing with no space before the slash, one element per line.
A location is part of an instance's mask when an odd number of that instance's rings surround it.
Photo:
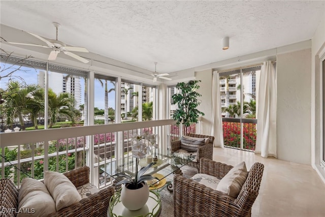
<path fill-rule="evenodd" d="M 278 96 L 277 156 L 281 160 L 303 164 L 311 164 L 310 46 L 310 43 L 303 42 L 295 46 L 289 45 L 278 48 L 276 63 Z M 279 54 L 279 52 L 281 53 Z M 265 56 L 261 55 L 259 59 L 255 59 L 254 62 L 249 64 L 274 59 L 275 55 L 276 50 L 274 55 L 270 55 L 270 53 Z M 246 65 L 245 63 L 242 64 L 242 66 Z M 234 66 L 238 67 L 238 63 L 234 62 Z M 222 63 L 218 68 L 224 68 Z M 228 66 L 227 68 L 234 67 Z M 204 96 L 199 107 L 199 110 L 205 113 L 202 122 L 202 134 L 211 134 L 212 69 L 196 72 L 195 75 L 197 80 L 201 80 L 199 92 Z"/>

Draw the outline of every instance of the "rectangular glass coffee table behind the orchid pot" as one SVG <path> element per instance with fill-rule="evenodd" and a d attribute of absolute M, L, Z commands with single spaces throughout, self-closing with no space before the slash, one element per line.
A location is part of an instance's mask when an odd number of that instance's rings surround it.
<path fill-rule="evenodd" d="M 165 154 L 157 154 L 156 164 L 152 165 L 145 174 L 150 174 L 157 179 L 153 179 L 149 184 L 150 190 L 157 190 L 160 192 L 164 188 L 168 188 L 170 192 L 173 191 L 173 178 L 174 174 L 182 175 L 181 168 L 187 165 L 189 162 L 193 161 L 196 156 L 190 154 L 184 156 L 179 153 L 172 153 L 170 156 Z M 145 167 L 149 163 L 146 158 L 140 159 L 139 167 Z M 117 165 L 117 166 L 116 166 Z M 126 156 L 122 159 L 121 163 L 118 164 L 116 161 L 112 161 L 107 163 L 106 165 L 102 165 L 100 170 L 102 171 L 102 175 L 106 176 L 106 178 L 113 179 L 113 185 L 115 185 L 118 181 L 120 181 L 119 176 L 113 176 L 116 173 L 125 173 L 132 177 L 135 177 L 136 172 L 136 159 L 132 156 Z M 114 186 L 116 191 L 120 188 L 120 186 Z"/>

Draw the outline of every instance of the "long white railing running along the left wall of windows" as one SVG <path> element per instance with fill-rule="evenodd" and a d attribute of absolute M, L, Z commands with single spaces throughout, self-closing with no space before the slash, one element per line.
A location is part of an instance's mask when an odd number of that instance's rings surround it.
<path fill-rule="evenodd" d="M 154 134 L 157 151 L 167 154 L 170 141 L 180 136 L 175 123 L 166 119 L 1 133 L 0 153 L 6 159 L 1 157 L 0 176 L 12 179 L 19 187 L 24 177 L 43 179 L 46 170 L 62 173 L 87 165 L 91 183 L 104 188 L 112 180 L 103 176 L 99 167 L 108 163 L 116 167 L 129 156 L 133 134 Z"/>

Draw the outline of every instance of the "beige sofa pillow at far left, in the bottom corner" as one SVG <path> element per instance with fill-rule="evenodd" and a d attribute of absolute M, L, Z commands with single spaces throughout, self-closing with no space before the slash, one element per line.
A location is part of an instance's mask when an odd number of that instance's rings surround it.
<path fill-rule="evenodd" d="M 48 192 L 45 184 L 34 178 L 24 178 L 21 182 L 18 194 L 17 216 L 47 216 L 55 213 L 55 202 Z"/>

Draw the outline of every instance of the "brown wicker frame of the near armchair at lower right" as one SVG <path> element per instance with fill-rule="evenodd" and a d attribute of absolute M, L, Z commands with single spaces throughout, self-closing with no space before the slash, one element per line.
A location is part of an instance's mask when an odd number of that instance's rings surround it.
<path fill-rule="evenodd" d="M 221 179 L 233 166 L 201 159 L 200 173 Z M 264 165 L 254 163 L 237 198 L 180 175 L 174 177 L 174 216 L 250 216 L 258 195 Z"/>

